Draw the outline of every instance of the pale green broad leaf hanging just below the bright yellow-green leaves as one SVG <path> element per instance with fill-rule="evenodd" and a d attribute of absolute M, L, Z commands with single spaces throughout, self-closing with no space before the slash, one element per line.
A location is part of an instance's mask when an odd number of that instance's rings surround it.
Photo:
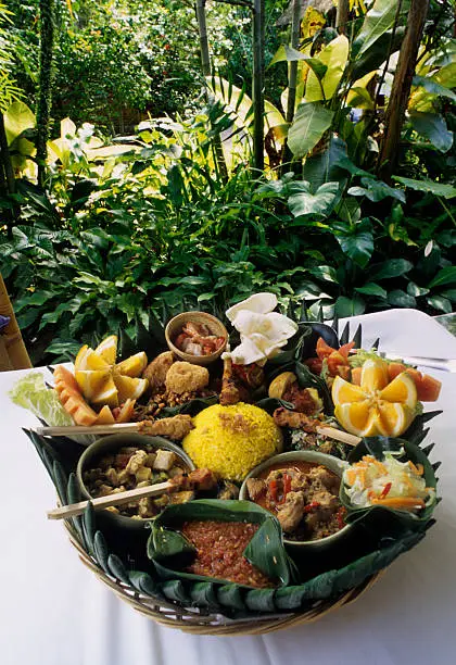
<path fill-rule="evenodd" d="M 318 102 L 297 106 L 288 133 L 288 145 L 296 159 L 305 156 L 331 126 L 334 113 Z"/>

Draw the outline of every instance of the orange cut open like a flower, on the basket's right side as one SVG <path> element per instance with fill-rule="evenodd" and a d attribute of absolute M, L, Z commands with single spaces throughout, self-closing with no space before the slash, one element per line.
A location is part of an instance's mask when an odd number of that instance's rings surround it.
<path fill-rule="evenodd" d="M 418 402 L 414 380 L 400 374 L 391 382 L 388 363 L 367 360 L 360 386 L 337 376 L 332 385 L 334 416 L 346 431 L 359 437 L 398 437 L 411 424 Z"/>

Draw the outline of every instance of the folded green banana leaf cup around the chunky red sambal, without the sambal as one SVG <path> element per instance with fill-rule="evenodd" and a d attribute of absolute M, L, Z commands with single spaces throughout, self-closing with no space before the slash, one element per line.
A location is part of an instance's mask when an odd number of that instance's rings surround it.
<path fill-rule="evenodd" d="M 250 501 L 220 501 L 202 499 L 167 506 L 151 524 L 148 556 L 162 579 L 230 584 L 229 580 L 187 573 L 197 553 L 195 548 L 181 535 L 187 520 L 243 522 L 258 524 L 259 528 L 246 545 L 243 555 L 276 587 L 287 587 L 291 580 L 291 562 L 282 543 L 280 524 L 270 513 Z M 245 585 L 237 585 L 245 587 Z"/>

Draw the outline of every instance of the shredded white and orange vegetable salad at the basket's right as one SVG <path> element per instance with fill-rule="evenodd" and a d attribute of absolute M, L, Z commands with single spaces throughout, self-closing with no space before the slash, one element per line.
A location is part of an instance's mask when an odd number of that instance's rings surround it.
<path fill-rule="evenodd" d="M 435 490 L 426 486 L 421 464 L 400 462 L 391 453 L 385 453 L 382 462 L 364 455 L 344 470 L 343 482 L 352 504 L 359 507 L 383 505 L 416 512 L 435 495 Z"/>

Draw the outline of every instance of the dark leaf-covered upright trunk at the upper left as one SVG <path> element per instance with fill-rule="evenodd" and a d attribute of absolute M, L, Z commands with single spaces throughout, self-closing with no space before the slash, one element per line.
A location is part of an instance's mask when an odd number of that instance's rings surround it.
<path fill-rule="evenodd" d="M 37 162 L 38 185 L 45 187 L 49 116 L 51 112 L 52 46 L 54 0 L 40 0 L 40 54 L 37 101 Z"/>

